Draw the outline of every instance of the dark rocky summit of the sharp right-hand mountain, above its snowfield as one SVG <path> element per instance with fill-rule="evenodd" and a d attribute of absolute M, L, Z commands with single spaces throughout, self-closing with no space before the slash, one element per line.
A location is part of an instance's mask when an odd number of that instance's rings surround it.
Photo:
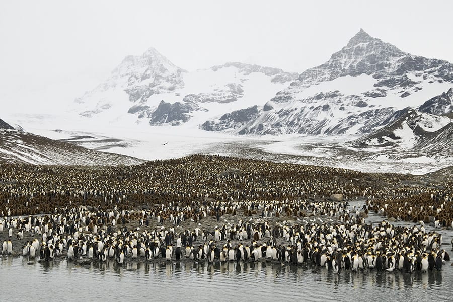
<path fill-rule="evenodd" d="M 360 29 L 327 62 L 300 73 L 298 83 L 293 83 L 292 86 L 308 87 L 318 82 L 361 74 L 382 80 L 390 77 L 391 81 L 407 83 L 407 74 L 415 72 L 418 72 L 418 76 L 423 73 L 424 79 L 431 78 L 433 82 L 453 82 L 453 64 L 404 52 Z"/>

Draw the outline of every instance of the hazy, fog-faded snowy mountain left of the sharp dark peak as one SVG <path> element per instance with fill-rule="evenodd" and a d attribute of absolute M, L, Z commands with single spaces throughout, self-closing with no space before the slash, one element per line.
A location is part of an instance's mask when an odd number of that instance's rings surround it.
<path fill-rule="evenodd" d="M 225 112 L 264 105 L 297 76 L 239 62 L 187 72 L 150 48 L 141 56 L 127 56 L 109 79 L 76 99 L 74 108 L 107 123 L 198 128 Z"/>

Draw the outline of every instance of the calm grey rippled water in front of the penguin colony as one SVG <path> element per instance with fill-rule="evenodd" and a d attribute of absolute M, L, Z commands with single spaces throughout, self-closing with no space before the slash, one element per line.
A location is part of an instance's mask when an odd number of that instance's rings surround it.
<path fill-rule="evenodd" d="M 367 223 L 382 221 L 372 215 Z M 412 225 L 397 222 L 396 225 Z M 433 230 L 426 226 L 426 231 Z M 453 231 L 442 234 L 450 256 Z M 412 274 L 365 271 L 335 274 L 310 265 L 256 263 L 133 263 L 79 266 L 65 260 L 28 265 L 0 257 L 0 301 L 453 301 L 453 266 Z"/>

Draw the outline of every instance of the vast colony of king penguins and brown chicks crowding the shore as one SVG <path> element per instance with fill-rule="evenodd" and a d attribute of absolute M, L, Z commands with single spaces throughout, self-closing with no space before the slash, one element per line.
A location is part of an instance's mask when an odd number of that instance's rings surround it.
<path fill-rule="evenodd" d="M 424 225 L 453 226 L 451 179 L 407 186 L 416 177 L 201 155 L 131 167 L 0 168 L 4 255 L 268 260 L 335 272 L 440 270 L 449 260 L 442 237 Z M 366 203 L 350 211 L 332 194 Z M 369 211 L 416 223 L 367 224 Z"/>

